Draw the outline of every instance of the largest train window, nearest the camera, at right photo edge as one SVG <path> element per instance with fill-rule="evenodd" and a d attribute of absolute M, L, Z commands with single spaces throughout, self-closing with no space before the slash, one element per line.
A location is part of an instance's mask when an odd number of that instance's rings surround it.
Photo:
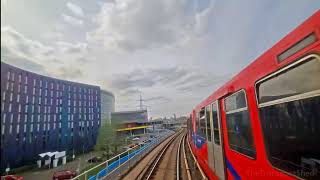
<path fill-rule="evenodd" d="M 271 164 L 301 178 L 320 179 L 320 60 L 305 60 L 256 87 Z"/>

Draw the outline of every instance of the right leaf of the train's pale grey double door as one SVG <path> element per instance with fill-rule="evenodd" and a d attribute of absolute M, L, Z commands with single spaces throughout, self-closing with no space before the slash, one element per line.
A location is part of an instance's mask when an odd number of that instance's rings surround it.
<path fill-rule="evenodd" d="M 223 153 L 223 141 L 221 140 L 221 120 L 219 114 L 219 101 L 211 105 L 212 129 L 213 129 L 213 155 L 215 174 L 219 179 L 225 179 L 225 161 Z"/>

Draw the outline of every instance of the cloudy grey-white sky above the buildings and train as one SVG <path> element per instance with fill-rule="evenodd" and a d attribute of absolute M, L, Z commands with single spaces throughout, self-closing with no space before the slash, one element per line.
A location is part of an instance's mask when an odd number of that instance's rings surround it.
<path fill-rule="evenodd" d="M 1 0 L 1 61 L 186 115 L 319 0 Z"/>

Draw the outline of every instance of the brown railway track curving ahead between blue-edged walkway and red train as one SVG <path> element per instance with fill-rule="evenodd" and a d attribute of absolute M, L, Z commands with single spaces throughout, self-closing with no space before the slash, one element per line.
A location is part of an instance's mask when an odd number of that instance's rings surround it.
<path fill-rule="evenodd" d="M 181 160 L 185 135 L 186 130 L 181 130 L 165 140 L 122 179 L 185 179 L 182 178 L 183 174 L 188 177 L 185 171 L 187 168 L 181 168 L 185 165 L 185 161 Z"/>

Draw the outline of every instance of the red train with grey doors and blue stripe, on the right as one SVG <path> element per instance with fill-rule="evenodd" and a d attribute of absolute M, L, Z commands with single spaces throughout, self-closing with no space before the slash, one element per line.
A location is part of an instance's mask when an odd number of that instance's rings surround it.
<path fill-rule="evenodd" d="M 320 11 L 196 106 L 209 179 L 320 179 Z"/>

